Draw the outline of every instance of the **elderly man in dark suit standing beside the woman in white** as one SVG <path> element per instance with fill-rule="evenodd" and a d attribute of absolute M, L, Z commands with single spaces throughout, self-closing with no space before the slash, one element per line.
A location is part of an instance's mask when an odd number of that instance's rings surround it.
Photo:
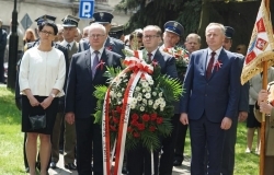
<path fill-rule="evenodd" d="M 103 175 L 101 126 L 93 124 L 96 85 L 106 84 L 106 67 L 121 67 L 121 56 L 104 48 L 105 27 L 93 23 L 89 28 L 90 49 L 72 56 L 66 92 L 66 120 L 76 124 L 77 170 L 79 175 Z M 93 144 L 93 149 L 92 149 Z"/>

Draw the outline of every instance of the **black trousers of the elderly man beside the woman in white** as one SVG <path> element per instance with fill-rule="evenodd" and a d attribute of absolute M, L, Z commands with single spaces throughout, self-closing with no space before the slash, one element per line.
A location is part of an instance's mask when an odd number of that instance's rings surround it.
<path fill-rule="evenodd" d="M 93 175 L 103 175 L 102 131 L 94 117 L 76 118 L 77 136 L 77 171 L 79 175 L 91 173 L 93 158 Z"/>

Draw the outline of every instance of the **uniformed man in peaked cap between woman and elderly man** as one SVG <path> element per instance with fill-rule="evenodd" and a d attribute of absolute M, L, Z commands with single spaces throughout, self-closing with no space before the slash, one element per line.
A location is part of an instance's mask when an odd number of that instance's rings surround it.
<path fill-rule="evenodd" d="M 75 40 L 75 35 L 77 33 L 77 26 L 80 19 L 67 15 L 62 19 L 62 37 L 64 40 L 60 43 L 61 46 L 66 47 L 68 50 L 69 63 L 73 54 L 79 49 L 79 43 Z M 53 145 L 52 145 L 52 163 L 50 167 L 56 168 L 56 163 L 59 161 L 59 139 L 61 131 L 61 124 L 65 114 L 58 113 L 55 120 L 54 131 L 53 131 Z M 64 132 L 64 163 L 65 167 L 68 170 L 76 170 L 75 165 L 75 149 L 76 149 L 76 126 L 65 122 Z"/>

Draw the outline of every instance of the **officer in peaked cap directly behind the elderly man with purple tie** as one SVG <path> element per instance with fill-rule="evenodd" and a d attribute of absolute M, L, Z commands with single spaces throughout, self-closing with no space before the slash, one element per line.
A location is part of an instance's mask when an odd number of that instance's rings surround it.
<path fill-rule="evenodd" d="M 124 54 L 122 51 L 122 49 L 125 48 L 124 43 L 119 39 L 109 36 L 109 33 L 111 31 L 111 23 L 112 23 L 113 15 L 107 12 L 95 12 L 93 13 L 93 18 L 94 18 L 94 23 L 104 25 L 106 30 L 107 37 L 105 38 L 104 47 L 107 50 L 111 50 L 124 57 Z M 89 49 L 89 42 L 87 39 L 82 39 L 80 40 L 80 46 L 81 47 L 79 47 L 79 52 L 83 51 L 82 48 L 87 50 Z"/>

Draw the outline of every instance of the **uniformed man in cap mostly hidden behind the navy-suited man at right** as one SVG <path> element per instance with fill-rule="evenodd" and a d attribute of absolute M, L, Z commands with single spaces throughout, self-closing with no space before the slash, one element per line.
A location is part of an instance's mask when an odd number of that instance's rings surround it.
<path fill-rule="evenodd" d="M 230 50 L 232 46 L 232 36 L 235 30 L 231 26 L 225 26 L 226 38 L 222 47 L 226 50 Z M 240 59 L 239 69 L 242 70 L 244 56 L 236 54 Z M 240 79 L 240 78 L 239 78 Z M 247 82 L 240 89 L 240 100 L 238 105 L 237 117 L 232 118 L 232 125 L 230 129 L 226 130 L 225 143 L 222 149 L 222 160 L 221 160 L 221 174 L 222 175 L 233 175 L 235 170 L 235 144 L 237 139 L 237 126 L 238 121 L 244 121 L 248 118 L 249 112 L 249 83 Z"/>

